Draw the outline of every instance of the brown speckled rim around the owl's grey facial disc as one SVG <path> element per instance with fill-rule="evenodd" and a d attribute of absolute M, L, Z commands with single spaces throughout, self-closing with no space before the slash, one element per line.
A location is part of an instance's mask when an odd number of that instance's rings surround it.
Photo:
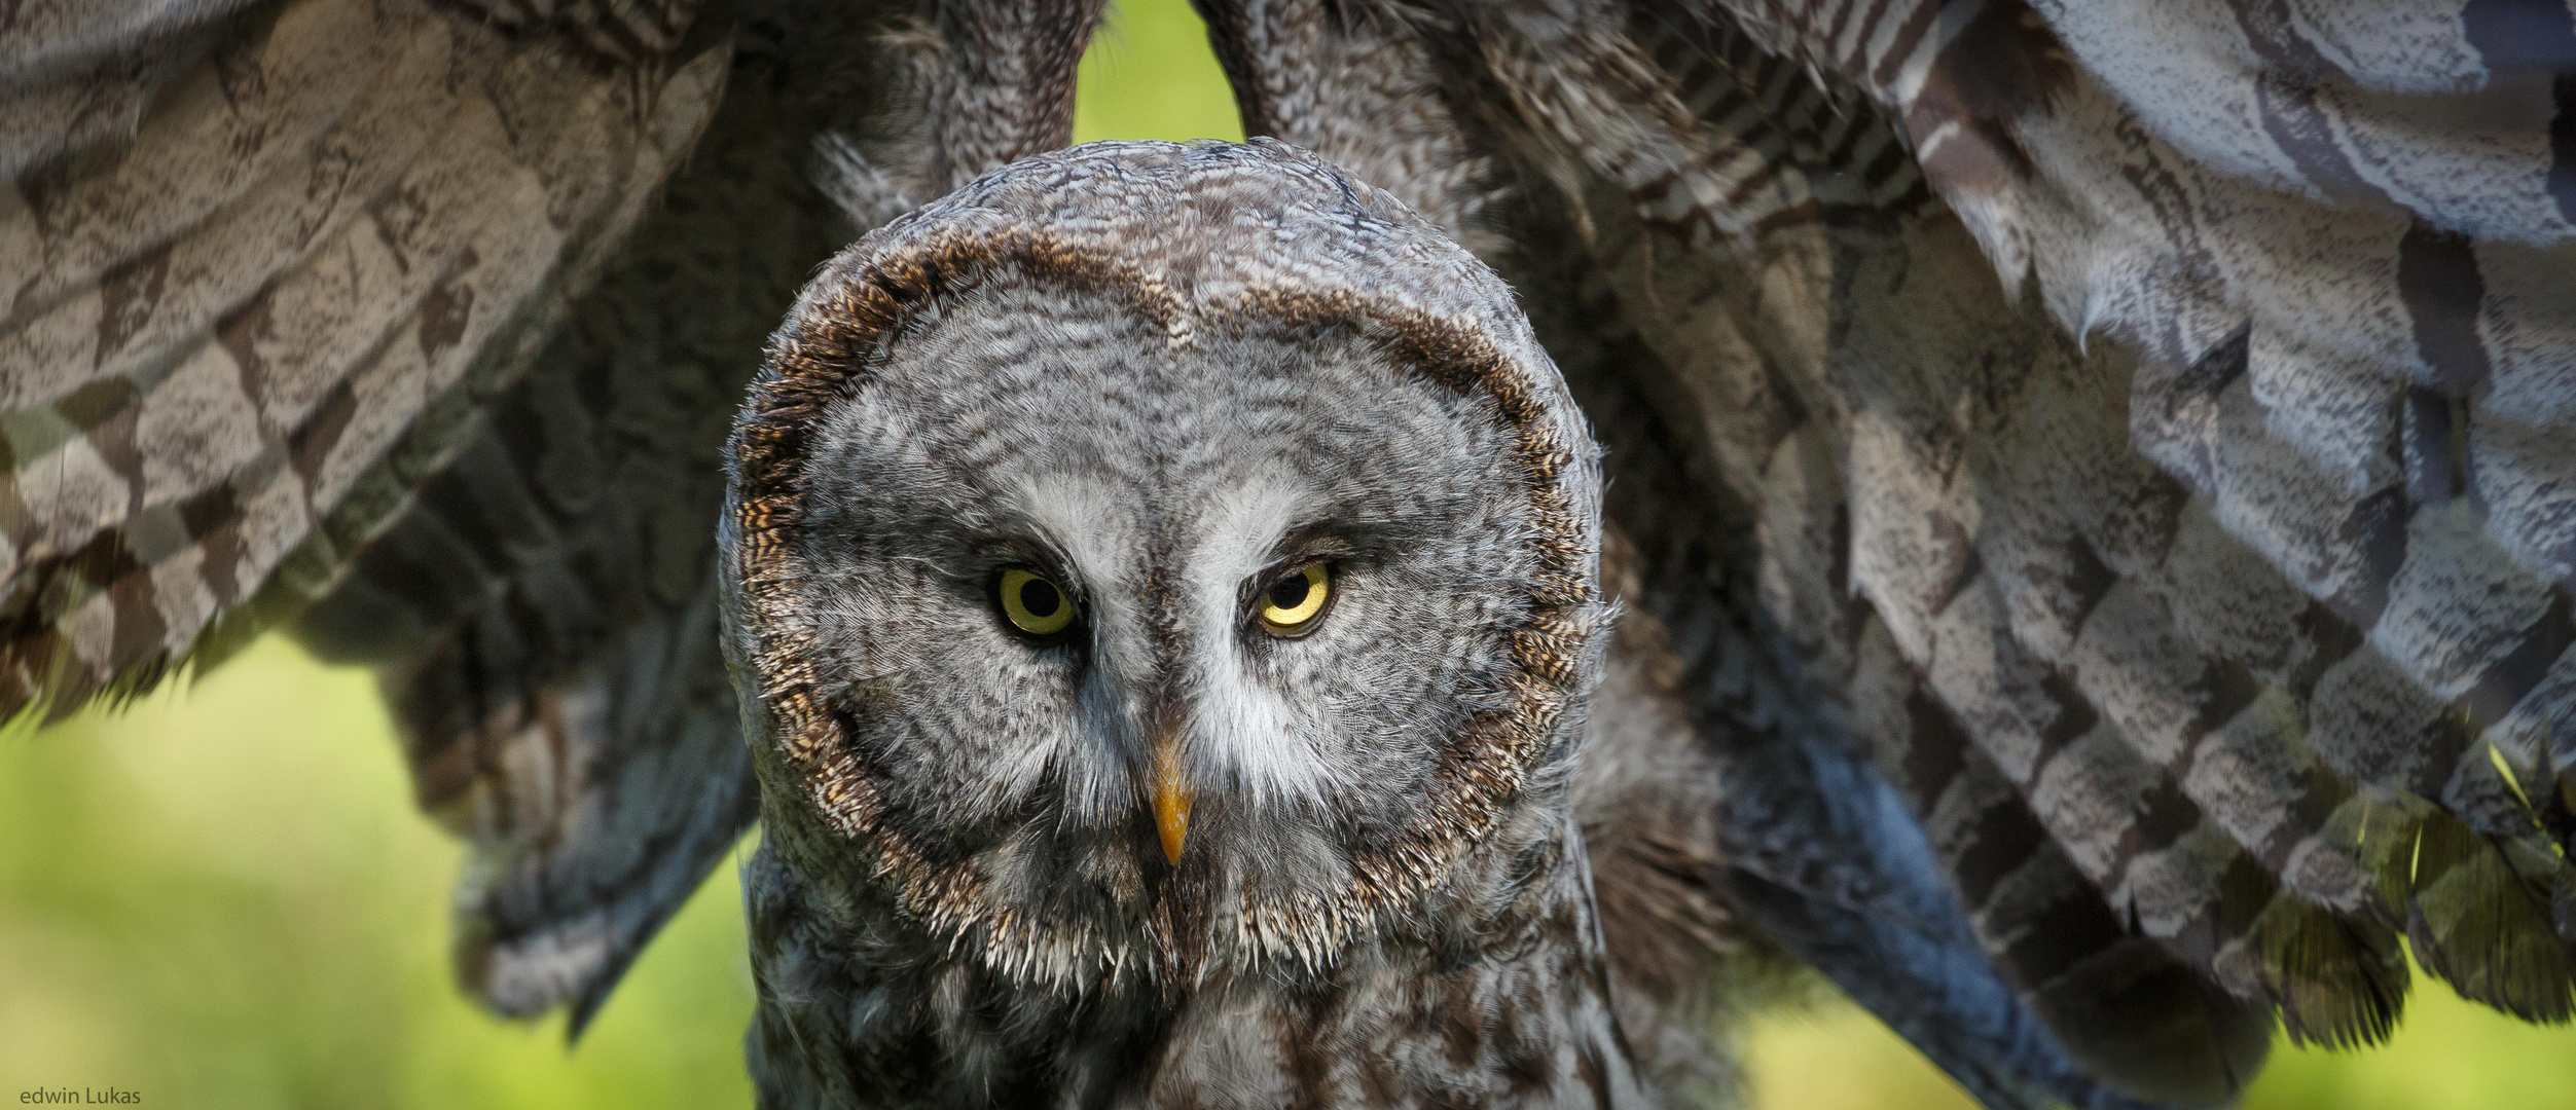
<path fill-rule="evenodd" d="M 876 852 L 876 876 L 896 886 L 907 912 L 938 935 L 979 940 L 1002 966 L 1030 968 L 1043 963 L 1041 950 L 1074 953 L 1108 937 L 1090 935 L 1079 922 L 997 912 L 979 896 L 984 876 L 971 860 L 938 863 L 881 819 L 881 767 L 842 734 L 842 713 L 827 706 L 817 677 L 822 654 L 799 616 L 806 567 L 796 551 L 806 453 L 829 404 L 868 384 L 891 340 L 922 309 L 997 278 L 1110 296 L 1162 327 L 1172 345 L 1195 343 L 1200 327 L 1226 330 L 1239 322 L 1350 327 L 1376 343 L 1396 373 L 1492 397 L 1512 433 L 1515 458 L 1530 484 L 1540 572 L 1528 585 L 1530 621 L 1510 634 L 1510 708 L 1486 711 L 1448 739 L 1432 775 L 1430 822 L 1352 858 L 1345 889 L 1296 899 L 1247 896 L 1236 917 L 1242 948 L 1324 966 L 1381 909 L 1437 886 L 1492 832 L 1530 767 L 1546 757 L 1579 693 L 1579 657 L 1597 631 L 1600 610 L 1592 569 L 1597 536 L 1569 487 L 1569 479 L 1587 474 L 1577 458 L 1582 433 L 1561 428 L 1571 412 L 1551 412 L 1538 379 L 1548 368 L 1520 366 L 1479 319 L 1437 317 L 1347 288 L 1249 288 L 1226 304 L 1188 304 L 1154 276 L 1033 227 L 935 232 L 907 250 L 827 276 L 832 286 L 809 296 L 773 340 L 734 422 L 732 523 L 739 538 L 732 569 L 752 616 L 744 662 L 760 677 L 775 742 L 801 770 L 809 801 L 832 827 Z"/>

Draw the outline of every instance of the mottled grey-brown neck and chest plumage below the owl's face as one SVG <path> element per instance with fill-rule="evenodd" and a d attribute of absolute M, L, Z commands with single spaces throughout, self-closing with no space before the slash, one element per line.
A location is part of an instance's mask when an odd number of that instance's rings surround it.
<path fill-rule="evenodd" d="M 1069 989 L 940 943 L 858 868 L 806 873 L 824 845 L 788 816 L 747 868 L 762 1107 L 1631 1105 L 1582 834 L 1561 804 L 1515 809 L 1319 971 L 1247 961 L 1216 922 L 1190 984 Z"/>

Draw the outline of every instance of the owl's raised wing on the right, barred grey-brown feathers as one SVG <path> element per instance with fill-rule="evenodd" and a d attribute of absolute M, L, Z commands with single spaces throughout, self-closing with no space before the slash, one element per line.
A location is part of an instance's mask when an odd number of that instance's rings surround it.
<path fill-rule="evenodd" d="M 2568 1017 L 2563 5 L 1211 8 L 1252 131 L 1520 283 L 1739 912 L 1981 1097 L 2223 1102 L 2275 1017 L 2385 1038 L 2401 937 Z M 1886 935 L 1842 755 L 2107 1089 L 1917 1033 L 2009 1012 Z"/>

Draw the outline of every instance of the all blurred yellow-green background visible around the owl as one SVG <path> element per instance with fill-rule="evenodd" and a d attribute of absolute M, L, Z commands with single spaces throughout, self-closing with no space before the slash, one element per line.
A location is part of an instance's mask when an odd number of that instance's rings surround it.
<path fill-rule="evenodd" d="M 1242 124 L 1185 0 L 1128 0 L 1082 67 L 1077 139 Z M 0 1097 L 121 1087 L 160 1107 L 747 1107 L 734 868 L 572 1051 L 448 984 L 453 842 L 361 672 L 268 639 L 121 713 L 0 734 Z M 1968 1100 L 1826 997 L 1749 1038 L 1765 1110 Z M 2391 1048 L 2282 1046 L 2259 1110 L 2576 1107 L 2576 1035 L 2427 984 Z"/>

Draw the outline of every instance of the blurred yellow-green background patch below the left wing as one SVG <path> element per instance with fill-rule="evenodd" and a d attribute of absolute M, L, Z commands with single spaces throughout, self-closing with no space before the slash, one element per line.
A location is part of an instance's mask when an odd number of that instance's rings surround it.
<path fill-rule="evenodd" d="M 124 713 L 0 739 L 0 1095 L 162 1107 L 750 1105 L 732 868 L 572 1053 L 448 981 L 464 852 L 374 682 L 268 639 Z"/>

